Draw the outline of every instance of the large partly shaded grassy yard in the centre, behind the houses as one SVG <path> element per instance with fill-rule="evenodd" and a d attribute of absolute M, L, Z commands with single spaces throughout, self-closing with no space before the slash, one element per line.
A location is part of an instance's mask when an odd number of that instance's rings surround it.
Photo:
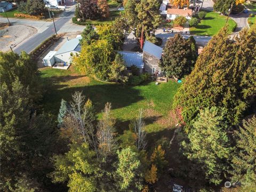
<path fill-rule="evenodd" d="M 83 91 L 94 104 L 99 118 L 106 102 L 111 102 L 117 119 L 118 132 L 128 128 L 140 108 L 145 110 L 146 129 L 149 133 L 174 127 L 177 123 L 172 112 L 174 94 L 180 84 L 170 81 L 155 85 L 148 82 L 138 86 L 123 86 L 96 81 L 80 74 L 75 68 L 69 70 L 43 69 L 41 76 L 47 87 L 43 106 L 46 112 L 58 114 L 61 98 L 69 101 L 71 93 Z"/>

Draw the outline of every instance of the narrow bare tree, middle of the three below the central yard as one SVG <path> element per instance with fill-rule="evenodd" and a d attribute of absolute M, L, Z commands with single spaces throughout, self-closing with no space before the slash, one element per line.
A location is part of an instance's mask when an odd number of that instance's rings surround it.
<path fill-rule="evenodd" d="M 103 157 L 114 153 L 116 149 L 115 121 L 110 113 L 111 103 L 106 103 L 103 117 L 98 123 L 97 139 L 98 148 Z"/>

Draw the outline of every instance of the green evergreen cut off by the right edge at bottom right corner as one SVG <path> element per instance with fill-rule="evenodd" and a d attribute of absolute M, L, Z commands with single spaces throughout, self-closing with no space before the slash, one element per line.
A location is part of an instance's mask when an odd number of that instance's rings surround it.
<path fill-rule="evenodd" d="M 243 191 L 256 190 L 256 117 L 243 120 L 236 132 L 236 151 L 233 158 L 233 180 L 240 181 Z M 241 190 L 242 191 L 242 190 Z"/>

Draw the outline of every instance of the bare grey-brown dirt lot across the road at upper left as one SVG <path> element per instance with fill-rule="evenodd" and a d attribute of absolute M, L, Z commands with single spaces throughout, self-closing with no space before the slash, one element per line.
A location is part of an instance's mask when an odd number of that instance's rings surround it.
<path fill-rule="evenodd" d="M 26 25 L 8 26 L 0 30 L 1 51 L 8 51 L 37 33 L 37 29 Z"/>

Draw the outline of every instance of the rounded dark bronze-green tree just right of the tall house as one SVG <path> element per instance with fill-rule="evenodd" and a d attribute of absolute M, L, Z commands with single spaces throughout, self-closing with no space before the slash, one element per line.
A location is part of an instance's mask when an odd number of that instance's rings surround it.
<path fill-rule="evenodd" d="M 196 60 L 195 47 L 192 45 L 193 42 L 179 34 L 167 40 L 160 66 L 168 76 L 181 78 L 190 73 Z"/>

